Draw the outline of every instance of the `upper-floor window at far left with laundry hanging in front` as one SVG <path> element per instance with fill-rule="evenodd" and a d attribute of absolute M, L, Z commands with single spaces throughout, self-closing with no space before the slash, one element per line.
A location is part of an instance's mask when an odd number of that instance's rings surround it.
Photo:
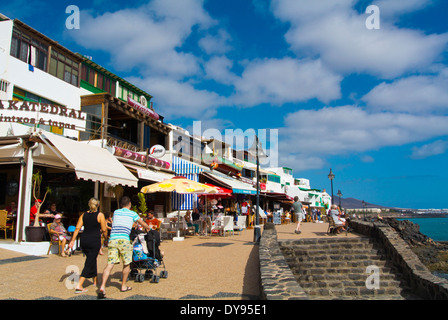
<path fill-rule="evenodd" d="M 11 56 L 47 71 L 48 46 L 14 28 L 11 41 Z"/>

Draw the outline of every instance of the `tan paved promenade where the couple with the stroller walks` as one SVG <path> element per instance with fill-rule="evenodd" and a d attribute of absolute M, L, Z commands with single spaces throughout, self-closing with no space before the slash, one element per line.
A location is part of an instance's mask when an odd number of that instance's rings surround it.
<path fill-rule="evenodd" d="M 328 237 L 327 223 L 303 223 L 300 235 L 293 233 L 294 228 L 295 224 L 277 226 L 278 238 Z M 132 290 L 122 293 L 122 265 L 116 265 L 106 289 L 107 297 L 120 300 L 259 299 L 258 246 L 253 243 L 253 229 L 226 237 L 187 236 L 182 242 L 164 240 L 160 248 L 165 252 L 167 279 L 160 279 L 159 283 L 129 281 Z M 107 249 L 104 252 L 98 257 L 99 278 L 107 262 Z M 72 270 L 80 272 L 84 259 L 79 252 L 62 258 L 26 256 L 0 249 L 0 299 L 96 299 L 96 287 L 88 280 L 86 293 L 75 294 L 74 289 L 67 288 Z"/>

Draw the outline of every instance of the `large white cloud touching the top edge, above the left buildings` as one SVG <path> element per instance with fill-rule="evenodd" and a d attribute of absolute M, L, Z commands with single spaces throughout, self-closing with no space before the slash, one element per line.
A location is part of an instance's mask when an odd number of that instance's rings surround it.
<path fill-rule="evenodd" d="M 118 70 L 139 67 L 143 74 L 182 78 L 200 71 L 197 57 L 179 47 L 192 27 L 208 27 L 214 21 L 201 0 L 153 0 L 135 9 L 95 16 L 82 11 L 82 26 L 68 33 L 89 49 L 106 51 Z"/>

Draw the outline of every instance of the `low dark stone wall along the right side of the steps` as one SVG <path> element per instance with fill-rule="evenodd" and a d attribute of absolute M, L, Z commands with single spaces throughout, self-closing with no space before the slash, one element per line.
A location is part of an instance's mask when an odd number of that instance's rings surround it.
<path fill-rule="evenodd" d="M 415 294 L 424 299 L 448 300 L 448 280 L 431 274 L 390 226 L 360 220 L 352 221 L 350 226 L 355 232 L 375 238 L 381 243 L 388 259 L 393 262 Z"/>

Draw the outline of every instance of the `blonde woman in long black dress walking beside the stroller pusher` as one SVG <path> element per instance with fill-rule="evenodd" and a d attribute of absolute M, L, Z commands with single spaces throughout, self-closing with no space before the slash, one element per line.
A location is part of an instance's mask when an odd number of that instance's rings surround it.
<path fill-rule="evenodd" d="M 99 206 L 100 202 L 97 199 L 91 198 L 89 200 L 89 211 L 79 217 L 76 230 L 69 244 L 69 248 L 72 249 L 81 227 L 84 226 L 84 230 L 81 233 L 81 248 L 82 252 L 86 255 L 86 261 L 75 293 L 87 291 L 83 287 L 84 281 L 87 278 L 93 278 L 93 284 L 95 286 L 97 285 L 97 257 L 101 249 L 101 233 L 105 237 L 107 236 L 106 219 L 104 218 L 104 214 L 99 212 Z"/>

